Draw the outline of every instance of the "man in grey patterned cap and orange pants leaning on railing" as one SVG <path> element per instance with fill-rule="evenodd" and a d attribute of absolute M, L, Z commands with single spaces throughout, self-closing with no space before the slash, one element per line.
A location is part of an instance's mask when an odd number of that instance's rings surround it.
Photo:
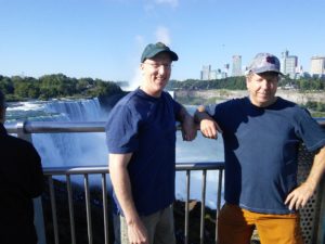
<path fill-rule="evenodd" d="M 249 243 L 255 227 L 263 244 L 302 243 L 298 209 L 325 171 L 325 131 L 297 104 L 275 95 L 280 61 L 259 53 L 251 62 L 248 98 L 200 106 L 195 120 L 207 138 L 222 132 L 224 198 L 219 244 Z M 311 172 L 297 185 L 298 145 L 315 151 Z"/>

